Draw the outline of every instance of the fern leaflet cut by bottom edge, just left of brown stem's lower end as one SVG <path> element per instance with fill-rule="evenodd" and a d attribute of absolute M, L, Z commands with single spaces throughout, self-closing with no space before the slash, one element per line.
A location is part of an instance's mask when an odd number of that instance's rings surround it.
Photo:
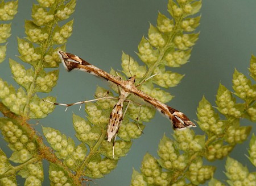
<path fill-rule="evenodd" d="M 51 185 L 54 186 L 71 186 L 69 183 L 68 177 L 65 175 L 63 171 L 51 170 L 49 171 L 49 180 L 51 181 Z"/>

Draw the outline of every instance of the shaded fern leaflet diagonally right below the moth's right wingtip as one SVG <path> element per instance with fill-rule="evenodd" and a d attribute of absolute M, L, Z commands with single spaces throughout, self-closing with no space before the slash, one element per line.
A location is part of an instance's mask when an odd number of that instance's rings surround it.
<path fill-rule="evenodd" d="M 223 140 L 217 140 L 207 146 L 206 157 L 208 160 L 213 161 L 215 159 L 222 159 L 228 156 L 229 152 L 232 151 L 234 146 L 224 145 Z"/>

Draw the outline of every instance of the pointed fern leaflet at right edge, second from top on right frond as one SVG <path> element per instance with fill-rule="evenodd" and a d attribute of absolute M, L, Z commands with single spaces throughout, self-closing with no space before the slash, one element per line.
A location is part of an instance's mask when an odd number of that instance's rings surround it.
<path fill-rule="evenodd" d="M 251 86 L 251 81 L 237 70 L 233 74 L 233 89 L 243 100 L 256 98 L 256 87 Z"/>

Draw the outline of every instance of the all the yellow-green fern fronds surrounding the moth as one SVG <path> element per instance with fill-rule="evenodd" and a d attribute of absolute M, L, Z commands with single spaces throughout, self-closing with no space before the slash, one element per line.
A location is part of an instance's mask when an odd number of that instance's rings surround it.
<path fill-rule="evenodd" d="M 49 180 L 51 185 L 81 185 L 84 176 L 101 178 L 117 167 L 119 158 L 129 152 L 132 140 L 142 135 L 142 122 L 154 117 L 155 110 L 141 104 L 135 96 L 130 95 L 131 102 L 125 118 L 118 130 L 119 139 L 113 144 L 106 140 L 106 126 L 109 115 L 119 92 L 117 85 L 112 85 L 112 92 L 98 87 L 96 98 L 108 95 L 96 102 L 85 105 L 87 118 L 73 114 L 73 127 L 76 138 L 67 137 L 59 130 L 43 127 L 42 137 L 28 124 L 28 120 L 47 117 L 55 106 L 55 98 L 41 98 L 40 93 L 49 93 L 57 83 L 60 59 L 57 51 L 65 50 L 65 43 L 72 34 L 73 20 L 65 23 L 75 11 L 76 1 L 38 0 L 32 6 L 32 20 L 25 22 L 26 38 L 18 38 L 18 56 L 30 68 L 13 59 L 9 60 L 13 78 L 19 85 L 15 89 L 0 78 L 0 110 L 5 117 L 0 118 L 0 130 L 9 148 L 13 151 L 10 158 L 0 149 L 0 183 L 17 185 L 16 175 L 25 179 L 24 185 L 42 185 L 44 180 L 43 163 L 49 162 Z M 18 1 L 0 4 L 0 19 L 13 19 Z M 112 75 L 126 79 L 138 78 L 135 84 L 144 93 L 168 102 L 172 95 L 163 88 L 179 84 L 184 75 L 166 71 L 166 67 L 177 68 L 188 62 L 192 46 L 199 33 L 201 1 L 177 0 L 168 2 L 170 17 L 158 14 L 157 25 L 150 24 L 148 36 L 142 37 L 137 55 L 143 62 L 140 65 L 130 55 L 122 54 L 122 72 L 112 69 Z M 63 26 L 60 26 L 63 25 Z M 0 43 L 6 43 L 10 36 L 11 24 L 0 24 Z M 0 46 L 0 63 L 5 59 L 5 46 Z M 46 71 L 46 68 L 50 68 Z M 250 76 L 256 80 L 256 57 L 250 61 Z M 156 74 L 156 75 L 155 75 Z M 148 78 L 152 75 L 149 80 Z M 147 81 L 145 81 L 147 80 Z M 159 88 L 159 86 L 161 88 Z M 256 90 L 255 85 L 237 70 L 233 75 L 234 93 L 224 85 L 219 86 L 216 97 L 216 109 L 205 97 L 197 108 L 198 125 L 204 135 L 196 135 L 193 130 L 175 130 L 173 138 L 164 135 L 158 146 L 159 158 L 150 154 L 144 155 L 141 173 L 133 171 L 131 185 L 199 185 L 209 181 L 209 185 L 224 185 L 213 178 L 216 167 L 207 165 L 229 155 L 238 143 L 244 142 L 251 131 L 250 126 L 240 126 L 240 119 L 246 118 L 255 122 Z M 236 97 L 240 100 L 237 102 Z M 139 103 L 138 103 L 139 102 Z M 125 103 L 127 106 L 127 103 Z M 216 111 L 217 110 L 217 111 Z M 220 114 L 221 117 L 220 117 Z M 139 126 L 139 127 L 138 127 Z M 139 129 L 140 128 L 140 129 Z M 250 140 L 249 156 L 256 166 L 256 137 Z M 16 163 L 15 166 L 11 162 Z M 256 172 L 249 172 L 246 167 L 232 158 L 226 160 L 226 176 L 229 185 L 255 185 Z"/>

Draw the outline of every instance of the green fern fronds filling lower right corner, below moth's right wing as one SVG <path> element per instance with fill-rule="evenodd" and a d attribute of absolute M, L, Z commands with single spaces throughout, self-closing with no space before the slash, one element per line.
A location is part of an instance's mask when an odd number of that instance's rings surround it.
<path fill-rule="evenodd" d="M 254 59 L 255 57 L 252 56 L 250 67 L 254 65 Z M 253 69 L 250 68 L 249 71 L 252 72 Z M 253 77 L 252 74 L 251 76 Z M 251 84 L 245 75 L 235 70 L 234 93 L 220 84 L 216 97 L 216 109 L 226 119 L 220 119 L 217 111 L 203 97 L 197 108 L 199 119 L 197 123 L 205 134 L 195 135 L 193 130 L 185 129 L 175 130 L 174 139 L 164 136 L 158 146 L 159 159 L 146 154 L 142 161 L 141 173 L 135 170 L 133 172 L 131 185 L 199 185 L 205 184 L 207 180 L 210 180 L 211 186 L 225 185 L 213 178 L 216 168 L 204 165 L 203 158 L 211 162 L 223 159 L 229 155 L 236 144 L 248 138 L 251 126 L 240 126 L 240 119 L 247 118 L 255 121 L 253 119 L 255 114 L 252 111 L 255 105 L 254 87 L 255 85 Z M 242 98 L 244 102 L 237 104 L 233 95 Z M 255 166 L 255 135 L 250 140 L 248 158 Z M 168 175 L 168 179 L 163 174 Z M 229 185 L 255 185 L 256 183 L 256 172 L 250 173 L 241 163 L 229 157 L 226 160 L 226 176 Z"/>

